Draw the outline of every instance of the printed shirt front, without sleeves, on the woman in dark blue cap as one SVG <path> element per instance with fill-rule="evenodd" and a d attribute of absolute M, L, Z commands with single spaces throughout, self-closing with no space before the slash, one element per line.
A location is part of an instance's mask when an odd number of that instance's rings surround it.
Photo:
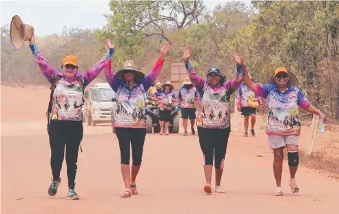
<path fill-rule="evenodd" d="M 207 87 L 198 109 L 197 126 L 213 129 L 229 127 L 229 95 L 225 87 Z"/>

